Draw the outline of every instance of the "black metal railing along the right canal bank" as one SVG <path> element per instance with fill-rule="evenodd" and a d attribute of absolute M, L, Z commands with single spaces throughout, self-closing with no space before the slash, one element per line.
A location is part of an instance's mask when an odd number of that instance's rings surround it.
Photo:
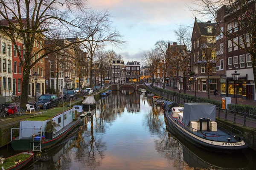
<path fill-rule="evenodd" d="M 162 91 L 157 91 L 156 89 L 151 88 L 151 86 L 149 85 L 146 85 L 146 84 L 144 85 L 148 89 L 148 91 L 151 91 L 152 93 L 157 94 L 158 96 L 161 96 L 165 99 L 172 100 L 178 103 L 179 105 L 183 105 L 184 103 L 196 102 L 188 99 L 183 99 L 180 97 L 180 94 L 178 96 L 172 96 L 171 94 L 168 94 Z M 243 125 L 244 127 L 248 126 L 248 127 L 256 128 L 256 115 L 241 113 L 237 111 L 231 111 L 228 109 L 216 108 L 216 116 L 226 121 L 227 120 L 231 121 L 234 124 L 238 123 L 240 125 Z"/>

